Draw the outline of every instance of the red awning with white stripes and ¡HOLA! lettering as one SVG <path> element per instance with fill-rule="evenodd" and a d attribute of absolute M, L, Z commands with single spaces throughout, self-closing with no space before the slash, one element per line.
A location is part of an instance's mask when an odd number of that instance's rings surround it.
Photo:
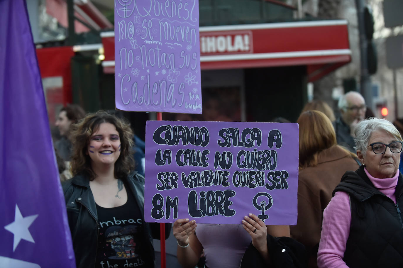
<path fill-rule="evenodd" d="M 347 21 L 200 27 L 202 70 L 307 65 L 315 81 L 351 61 Z M 101 33 L 104 72 L 114 72 L 114 32 Z"/>

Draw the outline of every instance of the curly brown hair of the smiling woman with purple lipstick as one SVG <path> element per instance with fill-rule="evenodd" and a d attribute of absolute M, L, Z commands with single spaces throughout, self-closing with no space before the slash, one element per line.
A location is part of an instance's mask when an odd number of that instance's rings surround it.
<path fill-rule="evenodd" d="M 91 135 L 98 131 L 102 123 L 110 123 L 116 127 L 120 137 L 120 156 L 115 162 L 115 178 L 125 178 L 134 170 L 133 160 L 133 131 L 125 119 L 118 118 L 108 112 L 98 111 L 89 113 L 77 124 L 73 125 L 72 142 L 73 155 L 71 157 L 71 172 L 73 176 L 81 174 L 90 181 L 96 178 L 91 168 L 91 159 L 87 154 L 87 146 Z"/>

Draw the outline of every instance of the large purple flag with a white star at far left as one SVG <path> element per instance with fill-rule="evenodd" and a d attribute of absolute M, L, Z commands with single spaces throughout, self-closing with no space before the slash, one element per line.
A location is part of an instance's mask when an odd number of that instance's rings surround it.
<path fill-rule="evenodd" d="M 75 267 L 25 0 L 0 0 L 0 267 Z"/>

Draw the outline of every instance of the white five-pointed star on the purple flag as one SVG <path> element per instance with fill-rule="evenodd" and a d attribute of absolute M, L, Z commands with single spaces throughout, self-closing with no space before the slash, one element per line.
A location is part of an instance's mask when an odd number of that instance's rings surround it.
<path fill-rule="evenodd" d="M 15 248 L 18 246 L 21 239 L 35 243 L 35 241 L 33 241 L 31 233 L 29 233 L 28 228 L 29 226 L 31 226 L 32 222 L 37 218 L 37 216 L 38 214 L 23 217 L 23 215 L 21 215 L 20 209 L 18 208 L 18 205 L 15 204 L 14 222 L 11 222 L 10 224 L 4 226 L 4 229 L 14 234 L 14 245 L 12 247 L 12 251 L 15 251 Z"/>

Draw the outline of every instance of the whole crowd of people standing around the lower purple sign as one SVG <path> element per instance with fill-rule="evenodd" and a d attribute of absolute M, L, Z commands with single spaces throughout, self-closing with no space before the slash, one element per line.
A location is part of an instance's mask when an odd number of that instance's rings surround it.
<path fill-rule="evenodd" d="M 130 124 L 71 108 L 56 120 L 63 139 L 55 150 L 72 177 L 60 172 L 77 268 L 154 267 L 160 226 L 144 221 L 145 178 L 135 169 Z M 265 225 L 254 214 L 241 224 L 178 219 L 165 233 L 172 228 L 179 264 L 200 267 L 202 257 L 206 268 L 403 267 L 403 122 L 366 118 L 357 92 L 343 95 L 338 109 L 334 116 L 313 101 L 297 120 L 295 226 Z"/>

